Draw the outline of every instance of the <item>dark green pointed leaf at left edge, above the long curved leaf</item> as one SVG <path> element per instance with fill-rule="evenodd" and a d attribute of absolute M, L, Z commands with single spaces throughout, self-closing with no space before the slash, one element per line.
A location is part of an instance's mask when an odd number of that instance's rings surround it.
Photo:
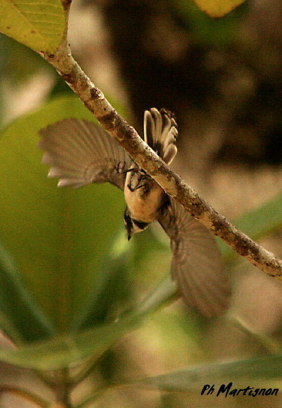
<path fill-rule="evenodd" d="M 25 288 L 21 277 L 0 245 L 0 327 L 14 340 L 40 340 L 55 330 Z"/>

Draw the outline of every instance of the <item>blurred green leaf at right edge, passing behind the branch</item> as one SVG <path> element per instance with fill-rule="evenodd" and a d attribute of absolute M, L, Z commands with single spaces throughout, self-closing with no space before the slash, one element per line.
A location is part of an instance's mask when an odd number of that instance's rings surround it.
<path fill-rule="evenodd" d="M 278 194 L 273 199 L 264 203 L 261 207 L 255 208 L 239 219 L 233 221 L 233 224 L 246 234 L 248 237 L 257 241 L 282 226 L 282 194 Z M 223 241 L 218 240 L 221 253 L 225 258 L 233 257 L 235 252 Z"/>

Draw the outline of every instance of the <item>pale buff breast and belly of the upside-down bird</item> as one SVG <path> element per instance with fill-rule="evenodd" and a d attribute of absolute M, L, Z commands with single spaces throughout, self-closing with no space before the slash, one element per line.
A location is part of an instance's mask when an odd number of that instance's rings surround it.
<path fill-rule="evenodd" d="M 141 187 L 130 191 L 125 184 L 124 197 L 133 219 L 141 222 L 153 222 L 157 219 L 158 209 L 164 199 L 164 190 L 153 180 L 149 182 L 149 192 Z"/>

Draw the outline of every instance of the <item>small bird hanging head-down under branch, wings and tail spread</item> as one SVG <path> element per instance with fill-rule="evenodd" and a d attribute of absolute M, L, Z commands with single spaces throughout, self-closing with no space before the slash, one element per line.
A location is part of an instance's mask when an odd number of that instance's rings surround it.
<path fill-rule="evenodd" d="M 188 305 L 206 316 L 227 306 L 229 285 L 213 236 L 130 158 L 112 136 L 93 122 L 64 119 L 40 131 L 42 162 L 59 187 L 109 182 L 124 191 L 127 237 L 158 221 L 171 240 L 172 278 Z M 144 141 L 170 164 L 177 125 L 165 109 L 144 114 Z"/>

